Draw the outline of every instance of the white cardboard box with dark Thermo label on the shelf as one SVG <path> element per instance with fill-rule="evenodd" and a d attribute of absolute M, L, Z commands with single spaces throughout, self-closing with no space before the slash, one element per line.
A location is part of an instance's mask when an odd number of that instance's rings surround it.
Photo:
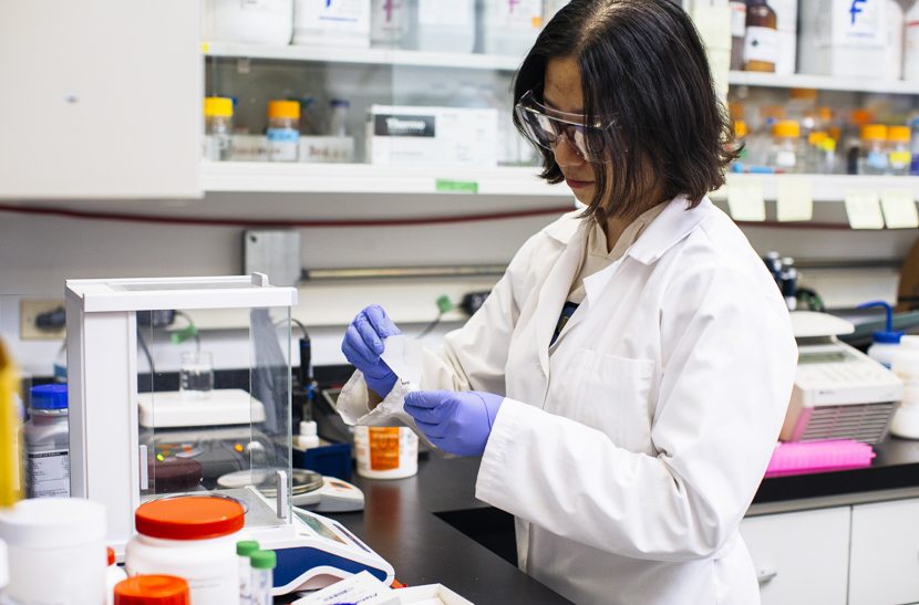
<path fill-rule="evenodd" d="M 366 157 L 383 166 L 494 167 L 497 131 L 497 109 L 372 105 Z"/>

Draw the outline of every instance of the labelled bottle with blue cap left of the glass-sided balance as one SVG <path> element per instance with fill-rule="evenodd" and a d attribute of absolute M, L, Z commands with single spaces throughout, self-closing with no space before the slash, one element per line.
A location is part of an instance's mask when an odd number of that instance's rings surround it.
<path fill-rule="evenodd" d="M 33 386 L 29 420 L 22 425 L 29 498 L 70 496 L 68 386 Z"/>

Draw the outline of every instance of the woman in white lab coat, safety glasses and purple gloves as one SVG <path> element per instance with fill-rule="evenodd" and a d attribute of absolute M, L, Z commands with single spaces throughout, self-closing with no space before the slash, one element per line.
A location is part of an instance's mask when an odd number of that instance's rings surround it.
<path fill-rule="evenodd" d="M 797 353 L 773 279 L 705 197 L 732 134 L 698 33 L 667 0 L 574 0 L 515 94 L 543 178 L 588 208 L 527 241 L 425 352 L 405 411 L 437 447 L 483 455 L 476 497 L 516 515 L 520 569 L 568 598 L 757 603 L 737 526 Z M 373 400 L 396 333 L 371 306 L 345 335 Z"/>

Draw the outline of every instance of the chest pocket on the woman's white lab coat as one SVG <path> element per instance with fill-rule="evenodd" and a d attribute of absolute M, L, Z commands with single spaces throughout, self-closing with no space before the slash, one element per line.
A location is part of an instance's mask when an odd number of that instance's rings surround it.
<path fill-rule="evenodd" d="M 579 350 L 568 368 L 572 397 L 570 418 L 603 431 L 612 442 L 634 452 L 650 452 L 648 396 L 654 362 L 627 359 Z"/>

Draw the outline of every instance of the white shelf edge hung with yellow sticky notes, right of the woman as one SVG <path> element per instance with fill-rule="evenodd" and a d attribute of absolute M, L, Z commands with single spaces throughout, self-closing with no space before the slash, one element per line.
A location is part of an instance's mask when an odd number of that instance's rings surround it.
<path fill-rule="evenodd" d="M 733 182 L 763 184 L 763 199 L 774 200 L 778 195 L 782 180 L 810 181 L 814 201 L 843 201 L 846 191 L 884 189 L 909 189 L 912 199 L 919 199 L 919 177 L 869 177 L 856 175 L 727 175 L 727 187 Z M 712 199 L 726 199 L 727 188 L 722 187 L 710 196 Z"/>

